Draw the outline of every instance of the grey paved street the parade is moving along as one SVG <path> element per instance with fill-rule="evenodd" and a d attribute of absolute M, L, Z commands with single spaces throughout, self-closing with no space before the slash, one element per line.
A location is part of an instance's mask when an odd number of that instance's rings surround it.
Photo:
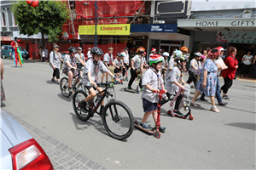
<path fill-rule="evenodd" d="M 55 169 L 255 169 L 255 82 L 235 80 L 229 105 L 218 106 L 221 113 L 197 100 L 193 121 L 167 115 L 170 106 L 163 105 L 160 123 L 167 130 L 160 139 L 135 128 L 119 141 L 108 135 L 99 116 L 88 122 L 77 118 L 72 98 L 50 82 L 49 63 L 25 62 L 16 68 L 13 60 L 3 59 L 2 109 L 37 139 Z M 126 86 L 115 86 L 116 99 L 141 120 L 141 95 L 124 92 Z M 154 126 L 151 116 L 148 124 Z"/>

